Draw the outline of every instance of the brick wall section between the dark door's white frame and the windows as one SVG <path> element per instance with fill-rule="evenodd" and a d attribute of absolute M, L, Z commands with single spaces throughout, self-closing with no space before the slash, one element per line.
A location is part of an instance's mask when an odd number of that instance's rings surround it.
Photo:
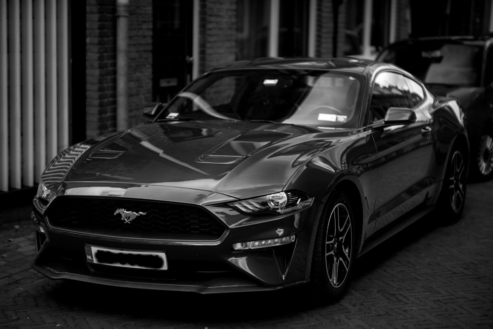
<path fill-rule="evenodd" d="M 199 73 L 235 61 L 236 0 L 200 1 Z"/>

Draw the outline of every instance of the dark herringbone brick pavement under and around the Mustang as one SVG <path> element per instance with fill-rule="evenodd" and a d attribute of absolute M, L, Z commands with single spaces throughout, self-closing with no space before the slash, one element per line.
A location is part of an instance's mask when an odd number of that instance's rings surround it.
<path fill-rule="evenodd" d="M 0 328 L 493 328 L 493 182 L 467 193 L 457 224 L 431 215 L 388 240 L 329 305 L 303 288 L 199 295 L 51 281 L 31 269 L 28 208 L 2 212 Z"/>

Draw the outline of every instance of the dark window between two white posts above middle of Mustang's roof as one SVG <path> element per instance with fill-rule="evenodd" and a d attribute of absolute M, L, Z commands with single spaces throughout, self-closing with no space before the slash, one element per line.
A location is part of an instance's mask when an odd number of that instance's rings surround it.
<path fill-rule="evenodd" d="M 279 56 L 308 55 L 309 1 L 282 0 L 279 13 Z"/>

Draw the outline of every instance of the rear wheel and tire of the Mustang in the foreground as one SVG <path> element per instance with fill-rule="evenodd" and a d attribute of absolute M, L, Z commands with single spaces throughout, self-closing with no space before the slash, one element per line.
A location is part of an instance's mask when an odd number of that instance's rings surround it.
<path fill-rule="evenodd" d="M 440 218 L 445 224 L 457 222 L 464 210 L 467 190 L 467 163 L 464 159 L 467 157 L 461 148 L 452 149 L 440 194 Z"/>

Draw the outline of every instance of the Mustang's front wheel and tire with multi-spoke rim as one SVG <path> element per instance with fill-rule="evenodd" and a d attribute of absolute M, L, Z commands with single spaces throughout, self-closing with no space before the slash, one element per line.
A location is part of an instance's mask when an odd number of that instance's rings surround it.
<path fill-rule="evenodd" d="M 337 192 L 322 212 L 315 240 L 311 282 L 320 301 L 336 301 L 348 287 L 355 255 L 354 231 L 349 198 Z"/>

